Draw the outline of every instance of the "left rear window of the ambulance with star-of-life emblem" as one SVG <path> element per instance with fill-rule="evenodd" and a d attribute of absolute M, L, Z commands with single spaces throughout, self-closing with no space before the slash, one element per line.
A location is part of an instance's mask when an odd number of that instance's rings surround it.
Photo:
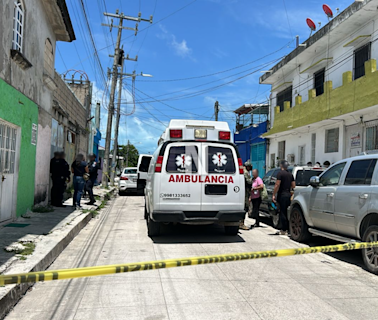
<path fill-rule="evenodd" d="M 171 147 L 167 172 L 197 172 L 198 148 L 196 146 Z"/>

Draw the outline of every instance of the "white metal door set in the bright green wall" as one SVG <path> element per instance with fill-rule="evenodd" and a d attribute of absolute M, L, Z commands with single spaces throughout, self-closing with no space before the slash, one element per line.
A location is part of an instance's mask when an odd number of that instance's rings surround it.
<path fill-rule="evenodd" d="M 17 127 L 0 120 L 0 222 L 15 213 Z"/>

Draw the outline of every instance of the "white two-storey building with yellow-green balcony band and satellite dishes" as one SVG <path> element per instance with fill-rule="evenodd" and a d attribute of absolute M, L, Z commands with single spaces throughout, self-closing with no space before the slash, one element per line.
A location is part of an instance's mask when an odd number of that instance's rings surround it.
<path fill-rule="evenodd" d="M 353 3 L 260 78 L 272 86 L 269 167 L 378 150 L 377 6 Z"/>

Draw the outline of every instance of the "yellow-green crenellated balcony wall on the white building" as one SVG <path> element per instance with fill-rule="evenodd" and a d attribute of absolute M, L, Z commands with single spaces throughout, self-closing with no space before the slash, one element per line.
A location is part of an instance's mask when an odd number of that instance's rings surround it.
<path fill-rule="evenodd" d="M 275 107 L 273 128 L 264 136 L 289 131 L 353 111 L 378 104 L 378 72 L 374 59 L 365 62 L 365 76 L 352 81 L 352 72 L 343 74 L 343 85 L 333 89 L 332 81 L 324 84 L 324 93 L 315 97 L 309 90 L 309 100 L 295 97 L 296 105 L 290 108 L 285 102 L 284 111 Z M 288 128 L 289 127 L 289 128 Z"/>

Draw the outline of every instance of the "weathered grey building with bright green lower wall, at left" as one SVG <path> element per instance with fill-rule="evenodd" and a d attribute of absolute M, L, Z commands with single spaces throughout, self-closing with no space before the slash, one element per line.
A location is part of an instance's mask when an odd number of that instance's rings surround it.
<path fill-rule="evenodd" d="M 55 44 L 75 35 L 64 0 L 2 0 L 0 16 L 1 223 L 46 198 Z"/>

